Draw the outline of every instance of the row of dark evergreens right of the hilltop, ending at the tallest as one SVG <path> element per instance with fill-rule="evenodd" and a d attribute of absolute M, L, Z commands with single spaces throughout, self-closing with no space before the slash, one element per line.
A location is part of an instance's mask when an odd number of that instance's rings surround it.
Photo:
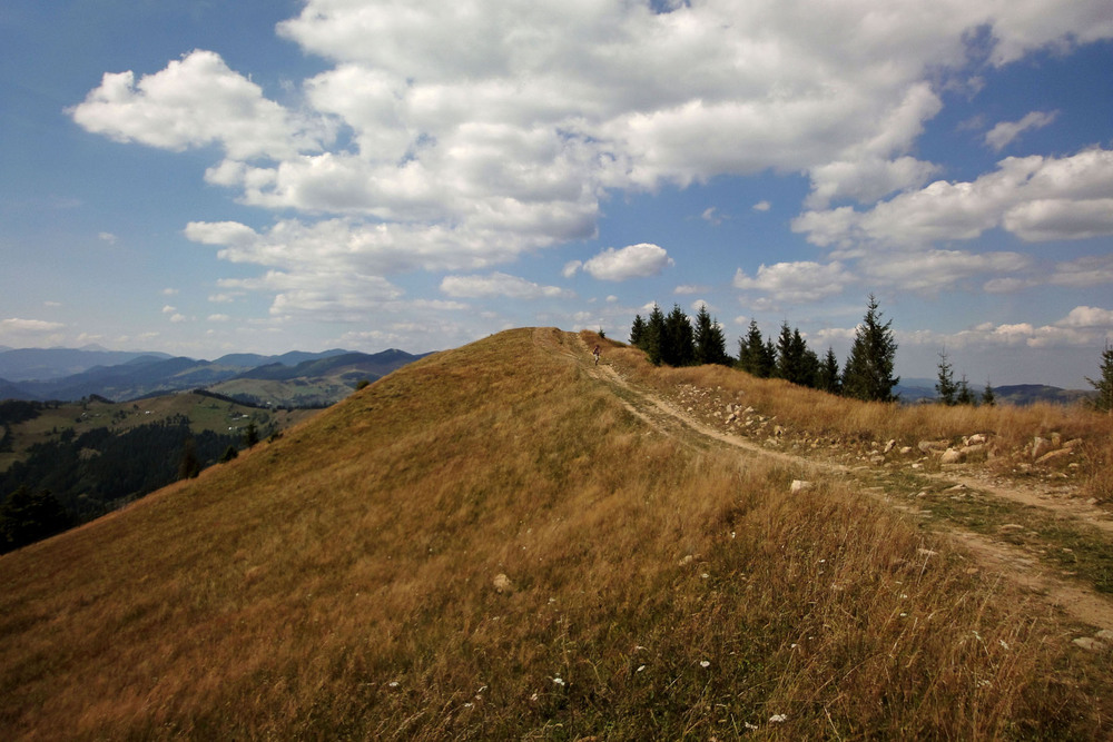
<path fill-rule="evenodd" d="M 693 324 L 678 305 L 666 315 L 654 304 L 648 319 L 641 315 L 634 317 L 630 343 L 658 365 L 733 365 L 762 378 L 782 378 L 856 399 L 893 402 L 896 399 L 893 387 L 900 379 L 893 376 L 897 344 L 890 325 L 892 320 L 881 321 L 877 299 L 870 295 L 866 316 L 841 372 L 834 349 L 828 347 L 820 359 L 808 348 L 800 330 L 790 328 L 787 321 L 774 342 L 772 337 L 764 338 L 757 321 L 750 320 L 746 336 L 738 340 L 738 358 L 731 358 L 722 328 L 706 306 L 700 307 Z"/>

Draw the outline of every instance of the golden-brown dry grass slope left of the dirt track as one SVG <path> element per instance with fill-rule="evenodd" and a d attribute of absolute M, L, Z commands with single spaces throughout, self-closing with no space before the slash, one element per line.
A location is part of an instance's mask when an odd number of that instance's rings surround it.
<path fill-rule="evenodd" d="M 583 354 L 425 358 L 0 558 L 0 738 L 1101 733 L 1048 616 L 846 485 L 654 432 Z"/>

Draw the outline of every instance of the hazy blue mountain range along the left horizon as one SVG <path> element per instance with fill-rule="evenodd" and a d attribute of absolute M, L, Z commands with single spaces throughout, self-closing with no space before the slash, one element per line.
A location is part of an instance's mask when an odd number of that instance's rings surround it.
<path fill-rule="evenodd" d="M 238 353 L 216 360 L 102 348 L 8 349 L 0 350 L 0 399 L 97 395 L 124 402 L 203 388 L 248 404 L 326 406 L 359 380 L 373 382 L 421 357 L 393 348 L 376 354 L 339 348 L 278 356 Z"/>

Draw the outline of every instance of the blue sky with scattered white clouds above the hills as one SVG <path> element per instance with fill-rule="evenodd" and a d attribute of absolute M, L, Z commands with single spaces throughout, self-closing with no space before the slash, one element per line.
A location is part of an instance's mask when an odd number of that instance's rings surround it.
<path fill-rule="evenodd" d="M 624 340 L 1089 388 L 1109 0 L 6 0 L 0 346 Z"/>

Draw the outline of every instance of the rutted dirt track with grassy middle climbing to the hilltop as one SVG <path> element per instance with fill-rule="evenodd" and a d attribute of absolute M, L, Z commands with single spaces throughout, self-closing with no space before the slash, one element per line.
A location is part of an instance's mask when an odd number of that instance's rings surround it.
<path fill-rule="evenodd" d="M 1054 522 L 1057 528 L 1076 535 L 1078 543 L 1113 553 L 1113 543 L 1109 540 L 1109 535 L 1113 534 L 1113 521 L 1093 504 L 1066 496 L 1061 488 L 1036 488 L 994 481 L 981 476 L 976 469 L 932 474 L 909 471 L 903 472 L 894 482 L 887 473 L 869 467 L 851 467 L 823 457 L 776 451 L 719 429 L 683 409 L 667 395 L 631 383 L 605 358 L 594 365 L 590 348 L 579 335 L 567 335 L 560 347 L 554 346 L 552 338 L 538 336 L 536 339 L 548 350 L 574 359 L 590 377 L 611 387 L 631 414 L 659 432 L 692 445 L 699 439 L 703 445 L 729 446 L 743 455 L 774 458 L 798 468 L 801 478 L 837 476 L 849 479 L 863 494 L 881 499 L 914 517 L 932 518 L 932 526 L 964 546 L 976 558 L 979 568 L 1037 594 L 1077 622 L 1095 630 L 1113 630 L 1113 598 L 1095 590 L 1092 580 L 1080 578 L 1070 570 L 1050 566 L 1047 548 L 1041 548 L 1038 543 L 1034 546 L 1025 543 L 1022 537 L 1033 534 L 1040 527 L 1037 524 Z M 934 496 L 928 495 L 928 489 Z M 925 495 L 928 496 L 925 498 Z M 979 532 L 964 525 L 964 518 L 973 518 L 956 511 L 955 503 L 967 508 L 993 509 L 998 520 L 1018 518 L 1022 522 L 1006 522 L 996 530 L 986 532 L 983 528 Z M 955 515 L 955 512 L 958 514 Z M 1061 548 L 1066 555 L 1074 551 L 1066 546 L 1055 548 Z"/>

